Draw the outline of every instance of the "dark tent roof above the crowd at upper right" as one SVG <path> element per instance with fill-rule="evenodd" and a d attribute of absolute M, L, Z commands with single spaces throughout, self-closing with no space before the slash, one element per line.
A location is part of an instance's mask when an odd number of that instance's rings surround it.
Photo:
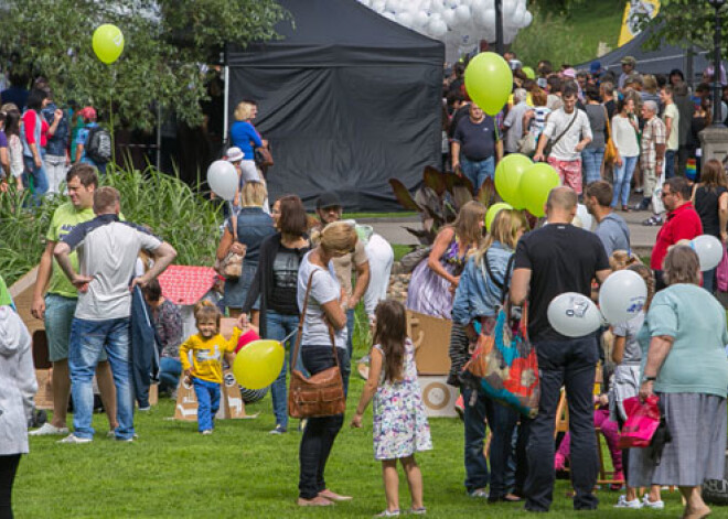
<path fill-rule="evenodd" d="M 642 48 L 642 45 L 655 28 L 656 24 L 651 23 L 624 45 L 614 48 L 601 57 L 582 63 L 578 68 L 589 68 L 590 63 L 598 61 L 601 63 L 602 68 L 619 74 L 622 68 L 622 58 L 624 56 L 633 56 L 638 62 L 636 69 L 643 74 L 667 74 L 673 68 L 679 68 L 685 72 L 687 68 L 687 50 L 666 43 L 661 44 L 656 51 L 645 51 Z M 693 71 L 699 74 L 710 65 L 710 56 L 708 51 L 696 46 L 693 48 Z"/>

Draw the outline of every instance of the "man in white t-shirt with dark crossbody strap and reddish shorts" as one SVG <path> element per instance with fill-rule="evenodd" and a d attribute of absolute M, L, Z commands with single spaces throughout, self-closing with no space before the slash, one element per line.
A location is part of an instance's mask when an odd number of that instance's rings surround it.
<path fill-rule="evenodd" d="M 561 184 L 581 194 L 581 150 L 591 142 L 591 127 L 585 111 L 576 107 L 577 87 L 574 83 L 564 86 L 561 99 L 564 106 L 546 119 L 534 161 L 548 159 L 548 164 L 556 170 Z M 549 140 L 553 148 L 546 158 L 544 149 Z"/>

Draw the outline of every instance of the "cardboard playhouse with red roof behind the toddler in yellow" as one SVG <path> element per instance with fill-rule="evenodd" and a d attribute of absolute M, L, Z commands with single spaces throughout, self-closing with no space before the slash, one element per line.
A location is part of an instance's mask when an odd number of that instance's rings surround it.
<path fill-rule="evenodd" d="M 180 306 L 183 323 L 183 336 L 186 338 L 197 333 L 194 322 L 194 305 L 203 299 L 217 300 L 214 292 L 217 282 L 217 272 L 210 267 L 191 267 L 173 264 L 160 277 L 159 284 L 162 288 L 164 299 Z M 229 338 L 235 326 L 235 318 L 223 318 L 221 322 L 221 334 Z M 232 370 L 226 369 L 223 374 L 224 383 L 221 388 L 220 410 L 215 415 L 218 420 L 256 418 L 245 412 L 245 402 L 240 394 Z M 180 377 L 176 390 L 176 406 L 174 407 L 175 420 L 197 420 L 197 399 L 192 385 Z"/>

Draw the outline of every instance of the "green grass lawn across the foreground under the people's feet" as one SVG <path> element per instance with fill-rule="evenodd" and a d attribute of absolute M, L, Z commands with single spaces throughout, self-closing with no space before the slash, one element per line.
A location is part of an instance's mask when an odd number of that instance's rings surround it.
<path fill-rule="evenodd" d="M 357 347 L 360 358 L 365 347 Z M 363 380 L 352 378 L 347 420 Z M 329 509 L 299 509 L 296 421 L 281 436 L 268 434 L 275 425 L 270 397 L 248 406 L 255 420 L 218 421 L 212 436 L 201 436 L 195 422 L 170 420 L 174 406 L 162 398 L 148 413 L 137 413 L 139 440 L 117 443 L 103 437 L 105 415 L 94 417 L 100 431 L 87 445 L 60 445 L 56 437 L 31 439 L 14 490 L 18 519 L 24 518 L 239 518 L 239 517 L 367 517 L 385 507 L 381 465 L 372 454 L 371 409 L 362 430 L 349 421 L 334 445 L 326 482 L 354 500 Z M 462 485 L 462 423 L 431 419 L 435 450 L 419 454 L 429 517 L 525 517 L 518 504 L 488 505 L 469 498 Z M 409 498 L 404 476 L 402 508 Z M 567 482 L 557 482 L 552 517 L 622 518 L 612 505 L 619 493 L 600 490 L 598 515 L 576 513 L 566 497 Z M 677 517 L 676 493 L 665 493 L 667 509 L 642 511 L 651 518 Z"/>

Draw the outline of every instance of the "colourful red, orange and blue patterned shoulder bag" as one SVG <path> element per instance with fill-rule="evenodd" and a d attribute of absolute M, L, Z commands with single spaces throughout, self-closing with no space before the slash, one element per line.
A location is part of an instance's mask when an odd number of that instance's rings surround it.
<path fill-rule="evenodd" d="M 490 272 L 486 257 L 485 269 L 491 281 L 499 285 Z M 538 413 L 540 383 L 538 357 L 528 339 L 528 303 L 524 303 L 521 318 L 511 318 L 507 300 L 507 273 L 514 257 L 508 260 L 502 283 L 503 305 L 497 313 L 492 335 L 481 335 L 472 358 L 465 364 L 470 374 L 480 378 L 480 390 L 488 397 L 510 406 L 527 418 Z"/>

